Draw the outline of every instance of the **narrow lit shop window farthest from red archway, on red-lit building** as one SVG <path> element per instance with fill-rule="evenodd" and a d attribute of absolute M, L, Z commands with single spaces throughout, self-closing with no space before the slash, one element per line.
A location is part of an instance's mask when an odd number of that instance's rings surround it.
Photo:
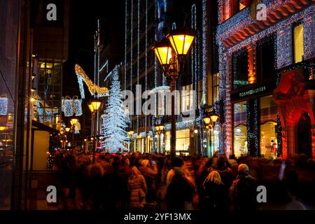
<path fill-rule="evenodd" d="M 234 154 L 237 158 L 247 154 L 246 103 L 234 104 Z"/>

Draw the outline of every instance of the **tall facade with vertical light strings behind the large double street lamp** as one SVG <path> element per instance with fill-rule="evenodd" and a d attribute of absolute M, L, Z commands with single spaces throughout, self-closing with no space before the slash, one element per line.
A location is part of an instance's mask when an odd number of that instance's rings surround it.
<path fill-rule="evenodd" d="M 156 102 L 160 97 L 162 105 L 154 106 L 155 113 L 144 116 L 130 116 L 130 130 L 132 136 L 131 151 L 141 153 L 165 153 L 170 151 L 170 116 L 167 116 L 166 92 L 169 83 L 165 80 L 158 58 L 154 55 L 153 44 L 161 41 L 167 30 L 187 27 L 196 31 L 196 41 L 191 52 L 187 55 L 186 67 L 177 83 L 179 98 L 177 111 L 195 113 L 190 120 L 181 113 L 176 123 L 176 151 L 177 153 L 201 153 L 200 148 L 218 150 L 218 130 L 215 130 L 215 147 L 210 147 L 207 141 L 207 131 L 202 127 L 200 106 L 212 105 L 218 101 L 218 66 L 212 66 L 216 57 L 212 57 L 214 43 L 211 34 L 214 29 L 211 22 L 217 8 L 215 1 L 163 1 L 163 0 L 132 0 L 125 1 L 125 59 L 122 90 L 132 90 L 134 93 L 134 114 L 136 113 L 136 97 L 146 90 L 154 92 Z M 213 69 L 214 68 L 214 69 Z M 213 75 L 215 74 L 215 75 Z M 214 81 L 213 81 L 214 80 Z M 137 94 L 137 85 L 141 85 L 141 94 Z M 214 86 L 214 88 L 213 88 Z M 213 91 L 214 90 L 214 91 Z M 193 94 L 195 91 L 195 94 Z M 138 99 L 141 106 L 146 99 Z M 131 107 L 130 107 L 131 109 Z M 155 123 L 163 123 L 165 129 L 156 132 Z M 196 131 L 197 130 L 197 131 Z M 205 153 L 206 155 L 207 153 Z"/>

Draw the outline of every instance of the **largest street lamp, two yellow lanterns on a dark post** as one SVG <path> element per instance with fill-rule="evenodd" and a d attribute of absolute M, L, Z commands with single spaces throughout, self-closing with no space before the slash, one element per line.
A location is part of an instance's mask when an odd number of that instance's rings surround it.
<path fill-rule="evenodd" d="M 172 31 L 165 39 L 155 43 L 152 50 L 158 57 L 162 66 L 165 78 L 171 82 L 170 90 L 173 92 L 176 88 L 176 80 L 179 78 L 186 55 L 195 39 L 195 34 L 186 29 Z M 171 116 L 171 154 L 176 155 L 176 116 L 175 99 L 172 95 L 172 116 Z"/>

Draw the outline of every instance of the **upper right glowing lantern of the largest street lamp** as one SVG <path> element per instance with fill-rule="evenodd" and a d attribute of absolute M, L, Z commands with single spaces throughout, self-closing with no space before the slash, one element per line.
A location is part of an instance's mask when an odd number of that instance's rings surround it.
<path fill-rule="evenodd" d="M 195 39 L 195 35 L 185 29 L 177 29 L 168 34 L 167 38 L 171 42 L 176 55 L 185 56 Z"/>

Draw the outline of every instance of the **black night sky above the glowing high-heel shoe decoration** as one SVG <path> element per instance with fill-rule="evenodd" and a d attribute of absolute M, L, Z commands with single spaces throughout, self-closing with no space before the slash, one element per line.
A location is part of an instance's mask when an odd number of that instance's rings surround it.
<path fill-rule="evenodd" d="M 94 33 L 97 19 L 101 19 L 101 42 L 120 46 L 116 52 L 123 55 L 125 46 L 125 1 L 70 0 L 69 60 L 64 66 L 64 96 L 79 94 L 74 64 L 80 64 L 92 77 L 94 66 Z M 90 52 L 89 52 L 90 51 Z M 69 84 L 69 85 L 68 85 Z M 85 93 L 86 96 L 90 95 Z"/>

